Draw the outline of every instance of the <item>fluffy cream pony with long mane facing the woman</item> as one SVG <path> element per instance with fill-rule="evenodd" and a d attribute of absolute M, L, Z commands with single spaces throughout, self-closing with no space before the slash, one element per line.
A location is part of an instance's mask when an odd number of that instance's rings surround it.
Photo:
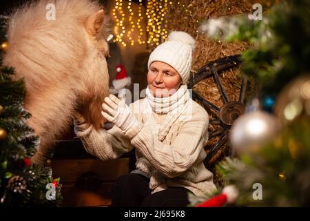
<path fill-rule="evenodd" d="M 47 19 L 51 3 L 55 17 Z M 40 136 L 33 162 L 45 162 L 75 111 L 96 128 L 104 122 L 101 104 L 110 94 L 107 35 L 107 19 L 96 1 L 41 0 L 11 15 L 3 61 L 14 67 L 15 79 L 25 81 L 28 125 Z"/>

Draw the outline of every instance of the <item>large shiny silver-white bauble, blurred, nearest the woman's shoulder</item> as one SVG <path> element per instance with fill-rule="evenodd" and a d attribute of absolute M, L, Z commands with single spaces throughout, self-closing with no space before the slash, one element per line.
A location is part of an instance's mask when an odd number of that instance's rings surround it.
<path fill-rule="evenodd" d="M 264 111 L 253 111 L 236 119 L 229 133 L 229 142 L 236 153 L 255 152 L 271 142 L 279 130 L 276 117 Z"/>

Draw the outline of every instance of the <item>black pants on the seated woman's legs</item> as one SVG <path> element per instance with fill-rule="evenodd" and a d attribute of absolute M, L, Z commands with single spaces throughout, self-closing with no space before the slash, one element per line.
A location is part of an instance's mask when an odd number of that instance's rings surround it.
<path fill-rule="evenodd" d="M 188 189 L 169 187 L 151 194 L 149 178 L 136 173 L 121 175 L 112 188 L 112 207 L 184 207 L 189 204 Z"/>

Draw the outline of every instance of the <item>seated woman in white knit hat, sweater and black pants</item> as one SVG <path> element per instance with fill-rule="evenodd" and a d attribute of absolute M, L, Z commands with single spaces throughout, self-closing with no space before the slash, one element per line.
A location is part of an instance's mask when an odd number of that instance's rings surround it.
<path fill-rule="evenodd" d="M 203 160 L 209 117 L 187 90 L 194 39 L 172 32 L 149 56 L 146 97 L 128 107 L 105 97 L 103 117 L 114 126 L 95 131 L 83 117 L 75 132 L 86 151 L 101 160 L 136 148 L 136 170 L 122 175 L 111 206 L 187 206 L 187 193 L 203 196 L 216 189 Z"/>

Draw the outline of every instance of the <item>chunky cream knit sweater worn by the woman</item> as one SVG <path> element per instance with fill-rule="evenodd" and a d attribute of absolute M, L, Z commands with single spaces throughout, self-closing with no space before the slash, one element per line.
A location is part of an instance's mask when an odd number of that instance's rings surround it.
<path fill-rule="evenodd" d="M 75 126 L 75 133 L 81 138 L 87 152 L 101 160 L 111 160 L 136 147 L 134 173 L 143 173 L 150 178 L 152 193 L 167 186 L 183 186 L 198 197 L 216 190 L 213 175 L 203 160 L 203 149 L 208 139 L 209 117 L 204 108 L 192 102 L 192 115 L 177 120 L 163 142 L 158 140 L 158 129 L 167 114 L 145 113 L 147 98 L 130 104 L 143 127 L 129 140 L 117 126 L 105 131 L 96 131 L 92 125 Z M 181 117 L 180 117 L 181 118 Z M 185 120 L 184 120 L 185 119 Z"/>

